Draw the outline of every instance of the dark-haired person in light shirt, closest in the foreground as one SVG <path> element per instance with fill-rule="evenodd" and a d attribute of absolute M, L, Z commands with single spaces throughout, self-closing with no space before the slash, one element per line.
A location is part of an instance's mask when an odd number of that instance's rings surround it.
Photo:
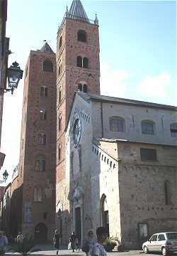
<path fill-rule="evenodd" d="M 103 242 L 108 238 L 107 229 L 99 227 L 96 229 L 97 242 L 93 245 L 91 256 L 107 256 Z"/>

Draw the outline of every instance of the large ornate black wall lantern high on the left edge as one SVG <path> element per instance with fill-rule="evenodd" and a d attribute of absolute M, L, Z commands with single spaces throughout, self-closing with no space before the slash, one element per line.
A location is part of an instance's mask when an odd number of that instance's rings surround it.
<path fill-rule="evenodd" d="M 18 87 L 18 82 L 23 77 L 23 70 L 21 70 L 19 64 L 15 61 L 10 68 L 6 69 L 6 75 L 8 79 L 8 88 L 0 88 L 0 92 L 11 92 L 13 95 L 13 90 Z"/>

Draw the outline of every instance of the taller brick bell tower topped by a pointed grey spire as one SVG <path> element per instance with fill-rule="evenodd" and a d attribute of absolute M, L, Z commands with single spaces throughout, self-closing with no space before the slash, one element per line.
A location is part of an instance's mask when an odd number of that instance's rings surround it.
<path fill-rule="evenodd" d="M 65 132 L 74 91 L 100 94 L 98 19 L 89 20 L 80 0 L 73 0 L 57 33 L 57 228 L 67 243 L 71 227 L 65 186 Z M 65 227 L 65 228 L 64 228 Z M 67 228 L 66 228 L 67 227 Z"/>

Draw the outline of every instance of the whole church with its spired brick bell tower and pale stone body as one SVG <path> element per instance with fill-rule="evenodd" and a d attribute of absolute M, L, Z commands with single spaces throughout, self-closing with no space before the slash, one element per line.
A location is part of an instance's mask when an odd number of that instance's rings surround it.
<path fill-rule="evenodd" d="M 126 248 L 176 229 L 176 107 L 100 95 L 98 19 L 73 0 L 57 34 L 56 228 Z"/>

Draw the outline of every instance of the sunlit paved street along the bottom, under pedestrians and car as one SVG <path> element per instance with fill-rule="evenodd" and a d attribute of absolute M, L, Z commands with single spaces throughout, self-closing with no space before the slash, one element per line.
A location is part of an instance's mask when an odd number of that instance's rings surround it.
<path fill-rule="evenodd" d="M 56 255 L 56 250 L 54 250 L 52 245 L 37 245 L 36 248 L 39 248 L 39 252 L 33 252 L 33 255 Z M 18 255 L 17 253 L 6 253 L 6 256 L 10 255 Z M 82 255 L 85 256 L 85 252 L 82 251 L 76 251 L 72 252 L 72 250 L 67 250 L 67 247 L 61 246 L 59 250 L 59 255 Z M 133 255 L 133 256 L 144 256 L 144 253 L 142 250 L 130 250 L 125 252 L 108 252 L 108 256 L 127 256 L 127 255 Z M 149 256 L 158 256 L 161 255 L 160 253 L 149 253 Z M 177 253 L 174 253 L 173 255 L 177 256 Z"/>

